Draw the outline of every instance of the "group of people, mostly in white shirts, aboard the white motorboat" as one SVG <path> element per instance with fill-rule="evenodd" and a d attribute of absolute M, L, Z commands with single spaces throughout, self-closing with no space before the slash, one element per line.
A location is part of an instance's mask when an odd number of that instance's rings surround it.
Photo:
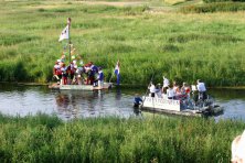
<path fill-rule="evenodd" d="M 190 98 L 192 89 L 192 91 L 198 90 L 198 99 L 205 100 L 207 98 L 205 84 L 201 79 L 198 79 L 196 86 L 192 85 L 191 88 L 187 83 L 183 83 L 182 86 L 178 85 L 177 82 L 170 84 L 169 79 L 163 76 L 162 87 L 160 84 L 155 86 L 153 83 L 150 83 L 148 89 L 150 90 L 151 97 L 158 96 L 159 98 L 167 97 L 168 99 L 184 99 Z"/>

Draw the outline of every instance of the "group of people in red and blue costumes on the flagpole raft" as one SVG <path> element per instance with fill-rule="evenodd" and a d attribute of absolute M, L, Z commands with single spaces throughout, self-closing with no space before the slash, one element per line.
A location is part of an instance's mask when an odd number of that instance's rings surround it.
<path fill-rule="evenodd" d="M 72 56 L 68 65 L 65 64 L 65 55 L 55 62 L 53 75 L 58 85 L 93 85 L 103 87 L 103 68 L 94 65 L 93 62 L 83 63 L 81 56 Z"/>

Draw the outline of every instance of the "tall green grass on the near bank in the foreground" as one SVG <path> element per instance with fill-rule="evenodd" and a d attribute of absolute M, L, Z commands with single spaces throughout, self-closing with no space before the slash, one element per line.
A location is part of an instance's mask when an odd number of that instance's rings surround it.
<path fill-rule="evenodd" d="M 0 118 L 0 162 L 230 162 L 242 121 Z"/>

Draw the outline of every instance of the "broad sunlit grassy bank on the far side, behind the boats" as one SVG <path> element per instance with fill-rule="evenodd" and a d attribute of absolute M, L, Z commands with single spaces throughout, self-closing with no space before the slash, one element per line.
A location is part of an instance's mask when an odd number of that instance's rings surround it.
<path fill-rule="evenodd" d="M 0 80 L 51 80 L 65 44 L 57 40 L 71 17 L 76 52 L 103 66 L 107 80 L 119 58 L 124 84 L 146 85 L 152 75 L 159 83 L 166 75 L 202 78 L 207 86 L 245 85 L 244 11 L 184 14 L 178 6 L 167 10 L 161 3 L 158 11 L 153 4 L 0 1 Z"/>

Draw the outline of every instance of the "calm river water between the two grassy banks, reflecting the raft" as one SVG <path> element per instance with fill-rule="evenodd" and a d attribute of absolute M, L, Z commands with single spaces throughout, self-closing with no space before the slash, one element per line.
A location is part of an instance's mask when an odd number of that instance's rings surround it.
<path fill-rule="evenodd" d="M 0 84 L 0 112 L 8 116 L 28 116 L 39 112 L 56 115 L 61 119 L 87 117 L 141 117 L 132 108 L 134 95 L 143 95 L 143 89 L 99 91 L 51 90 L 47 86 Z M 215 119 L 245 120 L 245 91 L 235 89 L 209 90 L 224 113 Z"/>

